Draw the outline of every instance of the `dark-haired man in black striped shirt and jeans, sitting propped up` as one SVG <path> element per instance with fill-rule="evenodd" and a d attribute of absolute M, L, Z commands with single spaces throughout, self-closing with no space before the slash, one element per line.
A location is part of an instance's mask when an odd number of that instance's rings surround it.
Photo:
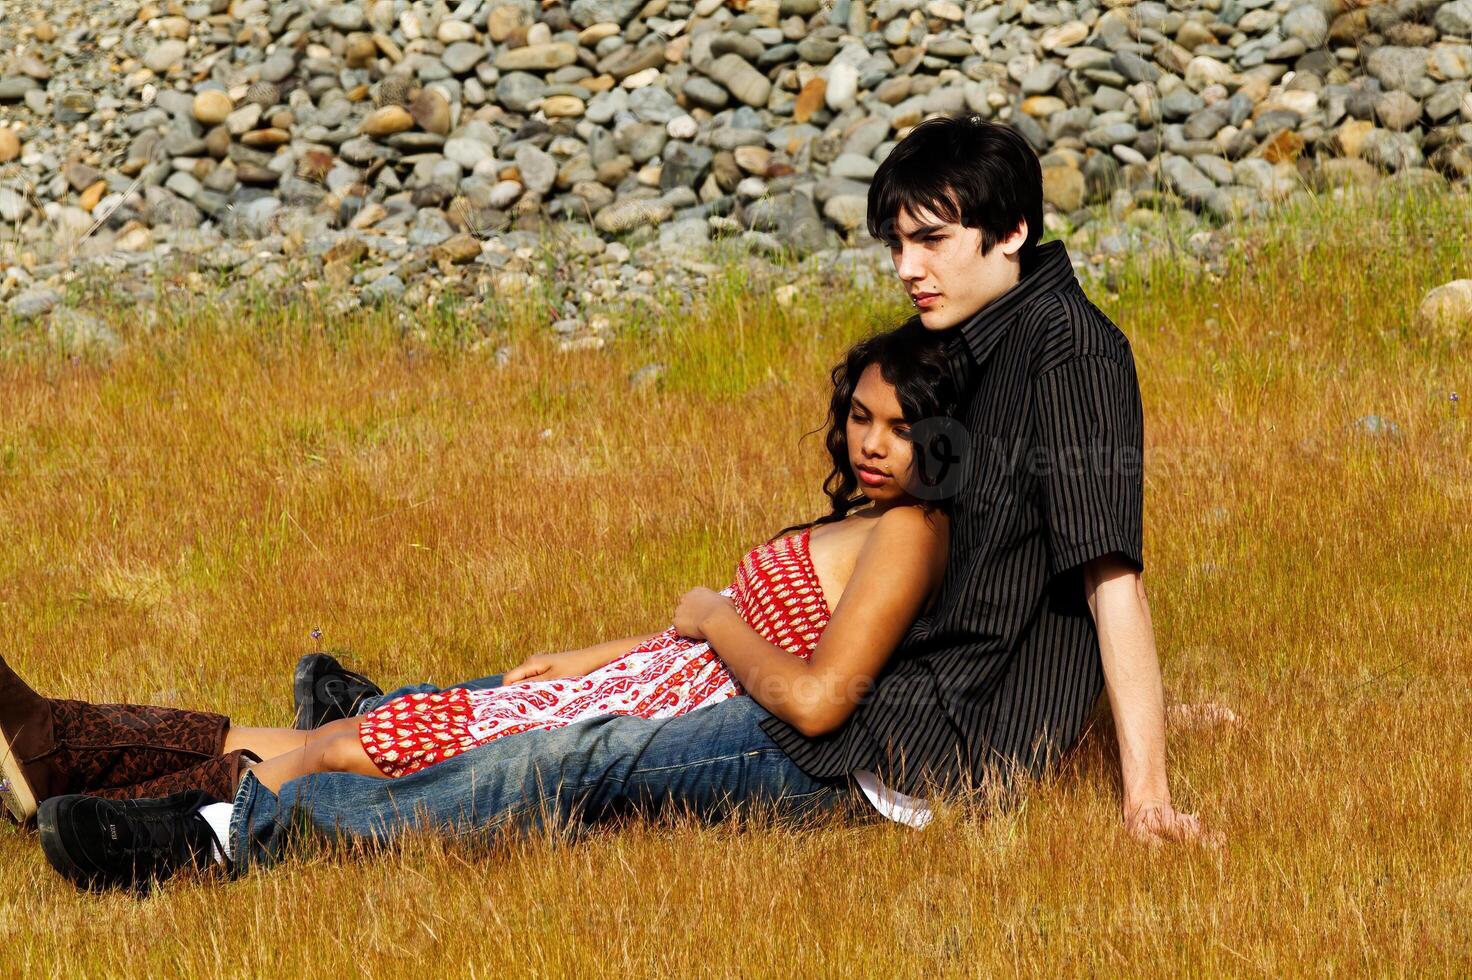
<path fill-rule="evenodd" d="M 717 820 L 748 803 L 789 817 L 873 803 L 923 824 L 926 793 L 1042 774 L 1078 740 L 1101 689 L 1126 828 L 1150 842 L 1198 836 L 1166 781 L 1139 578 L 1135 365 L 1063 244 L 1038 244 L 1036 156 L 980 118 L 929 119 L 874 174 L 868 227 L 924 327 L 951 331 L 969 400 L 941 596 L 876 678 L 851 678 L 873 684 L 836 730 L 802 734 L 743 696 L 668 720 L 612 715 L 502 739 L 399 780 L 322 774 L 274 795 L 246 775 L 233 806 L 205 809 L 203 793 L 62 798 L 43 808 L 53 865 L 131 884 L 208 864 L 216 843 L 236 871 L 268 864 L 303 827 L 381 842 L 411 828 L 577 825 L 670 808 Z M 362 678 L 316 668 L 299 680 L 336 684 L 352 709 L 378 703 L 364 700 Z"/>

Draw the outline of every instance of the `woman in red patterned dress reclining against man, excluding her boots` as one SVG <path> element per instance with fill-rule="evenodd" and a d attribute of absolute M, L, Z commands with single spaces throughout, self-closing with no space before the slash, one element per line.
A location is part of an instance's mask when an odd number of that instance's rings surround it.
<path fill-rule="evenodd" d="M 861 656 L 876 661 L 861 672 L 877 675 L 945 568 L 945 503 L 932 500 L 926 447 L 910 434 L 954 409 L 945 358 L 942 335 L 919 321 L 849 349 L 832 371 L 829 514 L 752 549 L 721 593 L 686 593 L 668 628 L 531 656 L 502 687 L 408 695 L 314 731 L 240 730 L 222 745 L 265 759 L 252 771 L 278 790 L 309 773 L 399 777 L 508 734 L 606 714 L 680 715 L 743 692 L 799 730 L 838 727 L 866 692 L 833 690 L 824 671 Z M 896 565 L 914 574 L 880 587 Z M 845 633 L 888 642 L 823 643 Z"/>

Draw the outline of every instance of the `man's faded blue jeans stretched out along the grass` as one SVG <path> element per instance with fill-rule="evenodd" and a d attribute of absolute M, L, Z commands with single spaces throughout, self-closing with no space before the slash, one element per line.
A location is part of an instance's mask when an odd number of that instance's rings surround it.
<path fill-rule="evenodd" d="M 484 681 L 499 678 L 473 683 Z M 392 696 L 420 690 L 436 689 Z M 836 809 L 877 818 L 851 778 L 799 770 L 762 731 L 768 717 L 746 696 L 677 718 L 601 715 L 505 736 L 394 780 L 319 773 L 280 795 L 247 773 L 230 827 L 234 870 L 272 864 L 299 836 L 380 845 L 417 830 L 475 839 L 540 827 L 576 833 L 629 814 L 717 821 L 751 806 L 783 821 Z"/>

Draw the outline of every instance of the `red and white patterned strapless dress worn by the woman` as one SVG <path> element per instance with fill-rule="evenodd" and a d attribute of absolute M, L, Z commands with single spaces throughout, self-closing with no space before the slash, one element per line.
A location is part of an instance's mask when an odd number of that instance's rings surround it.
<path fill-rule="evenodd" d="M 829 622 L 808 543 L 804 528 L 751 550 L 721 592 L 748 625 L 804 659 Z M 396 697 L 364 715 L 359 739 L 374 765 L 397 777 L 520 731 L 598 715 L 670 718 L 739 693 L 710 645 L 670 627 L 584 677 Z"/>

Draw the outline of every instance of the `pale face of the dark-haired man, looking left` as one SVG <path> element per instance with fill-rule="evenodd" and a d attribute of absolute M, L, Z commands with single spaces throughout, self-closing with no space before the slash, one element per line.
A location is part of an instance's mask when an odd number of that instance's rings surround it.
<path fill-rule="evenodd" d="M 927 330 L 948 330 L 1017 284 L 1027 222 L 982 255 L 980 228 L 901 210 L 889 258 Z"/>

